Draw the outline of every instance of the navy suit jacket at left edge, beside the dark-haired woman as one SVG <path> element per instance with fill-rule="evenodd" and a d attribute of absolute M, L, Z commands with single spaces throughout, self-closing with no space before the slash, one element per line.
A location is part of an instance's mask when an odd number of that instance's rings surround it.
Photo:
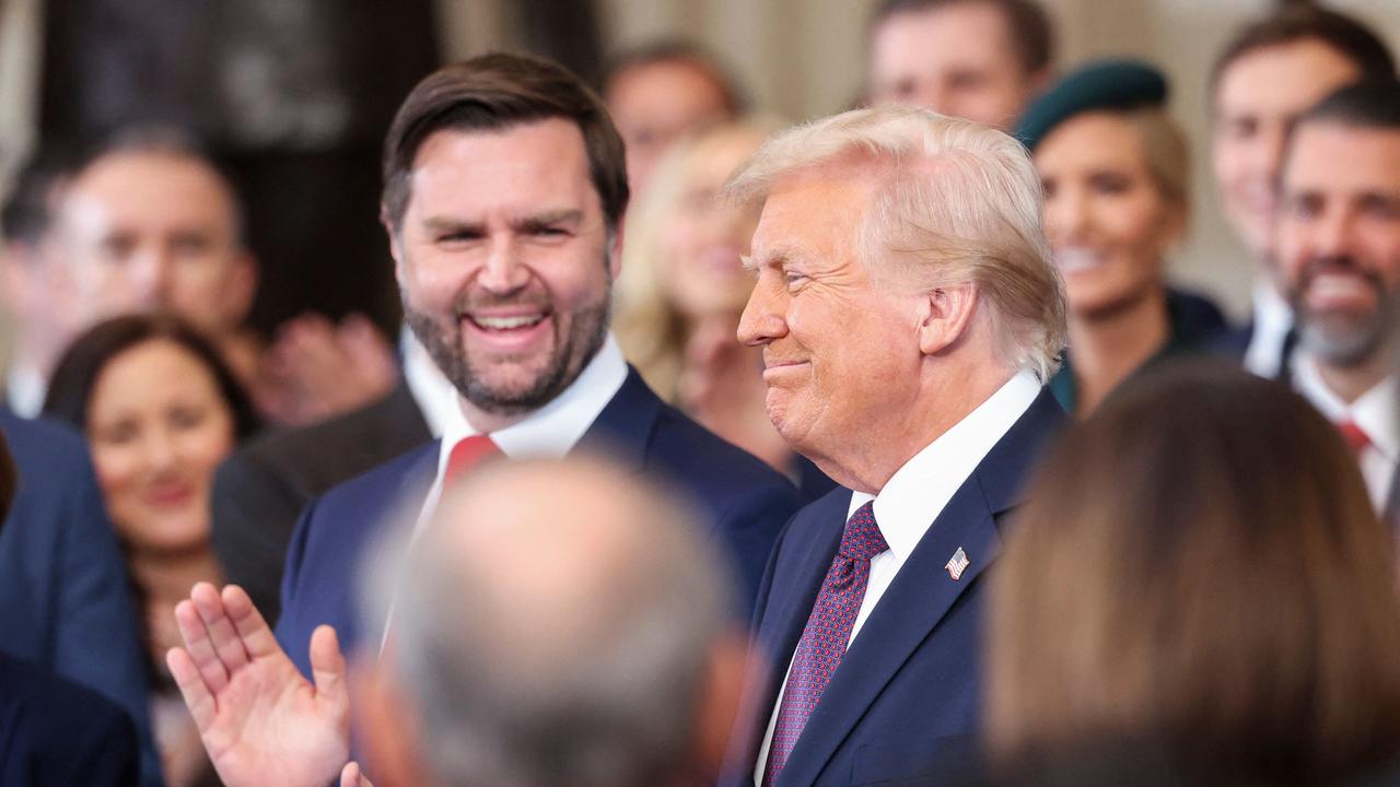
<path fill-rule="evenodd" d="M 67 427 L 6 409 L 0 430 L 20 471 L 0 532 L 0 651 L 122 706 L 141 738 L 141 784 L 160 784 L 146 651 L 87 444 Z"/>

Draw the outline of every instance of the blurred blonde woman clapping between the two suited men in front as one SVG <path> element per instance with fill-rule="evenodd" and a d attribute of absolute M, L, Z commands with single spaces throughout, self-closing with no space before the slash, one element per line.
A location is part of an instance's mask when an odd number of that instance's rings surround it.
<path fill-rule="evenodd" d="M 753 206 L 720 189 L 776 126 L 736 122 L 678 143 L 627 216 L 617 316 L 623 354 L 658 395 L 819 494 L 833 485 L 792 454 L 764 409 L 760 350 L 735 339 L 753 288 Z"/>

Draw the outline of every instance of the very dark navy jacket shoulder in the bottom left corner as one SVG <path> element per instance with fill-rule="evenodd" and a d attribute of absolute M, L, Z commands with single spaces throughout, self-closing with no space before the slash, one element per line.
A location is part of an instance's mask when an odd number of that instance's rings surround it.
<path fill-rule="evenodd" d="M 130 787 L 139 755 L 120 707 L 0 653 L 0 787 Z"/>

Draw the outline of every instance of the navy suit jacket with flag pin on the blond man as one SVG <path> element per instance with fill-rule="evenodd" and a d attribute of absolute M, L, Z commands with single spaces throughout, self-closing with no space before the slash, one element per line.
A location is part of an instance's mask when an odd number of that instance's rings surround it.
<path fill-rule="evenodd" d="M 1007 517 L 1046 440 L 1065 423 L 1050 389 L 953 493 L 851 643 L 778 776 L 778 787 L 903 784 L 960 774 L 980 723 L 980 629 L 987 580 Z M 750 688 L 756 717 L 741 724 L 725 784 L 752 786 L 759 748 L 792 651 L 846 528 L 850 490 L 798 511 L 773 549 L 755 612 L 770 658 Z M 944 569 L 962 548 L 959 580 Z"/>

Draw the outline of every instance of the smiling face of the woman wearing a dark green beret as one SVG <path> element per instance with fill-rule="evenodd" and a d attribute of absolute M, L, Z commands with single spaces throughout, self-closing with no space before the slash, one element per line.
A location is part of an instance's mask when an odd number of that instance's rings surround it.
<path fill-rule="evenodd" d="M 1046 235 L 1064 276 L 1070 311 L 1113 314 L 1162 290 L 1162 255 L 1182 231 L 1126 118 L 1086 112 L 1036 147 Z"/>

